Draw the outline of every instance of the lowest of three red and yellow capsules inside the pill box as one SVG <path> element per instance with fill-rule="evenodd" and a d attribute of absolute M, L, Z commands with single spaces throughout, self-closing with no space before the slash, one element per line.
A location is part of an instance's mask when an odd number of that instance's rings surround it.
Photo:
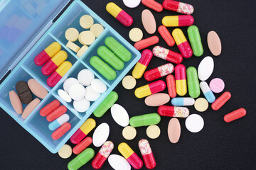
<path fill-rule="evenodd" d="M 68 72 L 68 70 L 72 67 L 71 62 L 65 61 L 63 64 L 58 67 L 58 69 L 53 72 L 53 74 L 50 74 L 50 77 L 47 79 L 47 84 L 50 87 L 55 86 L 58 81 Z"/>

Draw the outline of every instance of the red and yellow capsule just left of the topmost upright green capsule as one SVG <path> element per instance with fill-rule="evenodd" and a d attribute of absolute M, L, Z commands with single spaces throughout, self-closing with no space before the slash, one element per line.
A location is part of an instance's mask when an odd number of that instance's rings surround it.
<path fill-rule="evenodd" d="M 183 34 L 182 30 L 176 28 L 173 30 L 174 40 L 176 45 L 178 46 L 178 50 L 180 50 L 181 55 L 185 58 L 189 58 L 193 55 L 193 51 L 191 46 L 188 44 L 188 40 L 186 40 L 185 35 Z"/>

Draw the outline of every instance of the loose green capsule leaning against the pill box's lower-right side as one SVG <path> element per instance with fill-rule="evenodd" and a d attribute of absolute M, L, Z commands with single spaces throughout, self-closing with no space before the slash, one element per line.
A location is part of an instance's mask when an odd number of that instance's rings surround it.
<path fill-rule="evenodd" d="M 111 91 L 110 94 L 107 95 L 107 97 L 104 99 L 104 101 L 102 101 L 102 103 L 100 103 L 100 105 L 97 106 L 97 108 L 93 112 L 93 115 L 95 115 L 95 117 L 97 118 L 102 117 L 102 115 L 104 115 L 107 112 L 107 110 L 109 110 L 111 106 L 117 101 L 117 98 L 117 92 Z"/>

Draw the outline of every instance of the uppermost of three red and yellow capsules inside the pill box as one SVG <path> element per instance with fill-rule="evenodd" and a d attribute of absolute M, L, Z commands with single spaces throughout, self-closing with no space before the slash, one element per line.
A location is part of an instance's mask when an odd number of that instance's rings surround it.
<path fill-rule="evenodd" d="M 61 49 L 61 45 L 58 42 L 51 43 L 48 47 L 46 47 L 45 50 L 40 52 L 34 59 L 34 62 L 38 66 L 42 66 L 45 64 L 48 60 L 50 60 L 51 57 L 53 57 L 57 52 L 59 52 Z"/>

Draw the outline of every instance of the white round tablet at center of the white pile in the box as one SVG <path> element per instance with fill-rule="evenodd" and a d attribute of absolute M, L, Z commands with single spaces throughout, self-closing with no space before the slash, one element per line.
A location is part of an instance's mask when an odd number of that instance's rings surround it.
<path fill-rule="evenodd" d="M 85 87 L 81 84 L 73 84 L 70 86 L 70 89 L 68 89 L 68 94 L 73 100 L 79 101 L 85 97 Z"/>

